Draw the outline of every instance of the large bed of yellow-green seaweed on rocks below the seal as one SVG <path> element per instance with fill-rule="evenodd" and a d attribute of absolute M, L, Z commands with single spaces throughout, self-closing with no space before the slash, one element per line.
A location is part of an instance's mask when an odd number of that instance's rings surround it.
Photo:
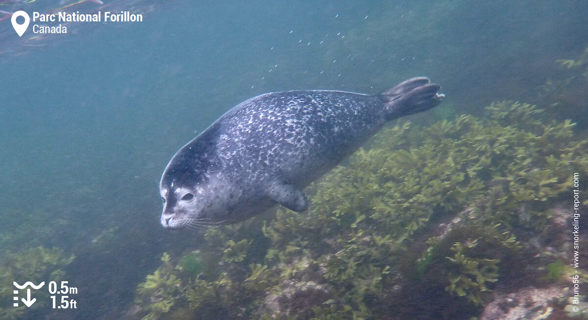
<path fill-rule="evenodd" d="M 483 119 L 387 127 L 308 188 L 307 213 L 207 230 L 208 271 L 159 280 L 173 294 L 147 302 L 208 318 L 373 319 L 426 318 L 406 308 L 425 297 L 444 301 L 432 314 L 475 315 L 519 259 L 520 230 L 544 230 L 572 174 L 588 176 L 588 140 L 543 114 L 497 102 Z"/>

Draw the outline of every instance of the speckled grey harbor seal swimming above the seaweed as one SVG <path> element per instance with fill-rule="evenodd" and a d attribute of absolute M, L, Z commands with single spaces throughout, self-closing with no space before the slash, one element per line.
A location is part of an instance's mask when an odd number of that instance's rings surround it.
<path fill-rule="evenodd" d="M 440 89 L 419 77 L 380 95 L 300 90 L 242 102 L 169 161 L 159 184 L 161 224 L 231 224 L 275 204 L 305 211 L 304 187 L 387 121 L 439 105 Z"/>

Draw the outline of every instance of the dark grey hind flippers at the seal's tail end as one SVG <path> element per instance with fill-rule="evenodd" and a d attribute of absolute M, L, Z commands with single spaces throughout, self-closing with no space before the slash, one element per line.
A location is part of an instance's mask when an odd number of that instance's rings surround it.
<path fill-rule="evenodd" d="M 428 78 L 417 77 L 399 83 L 382 93 L 388 120 L 429 110 L 441 103 L 445 95 L 437 93 L 440 85 L 430 83 Z"/>

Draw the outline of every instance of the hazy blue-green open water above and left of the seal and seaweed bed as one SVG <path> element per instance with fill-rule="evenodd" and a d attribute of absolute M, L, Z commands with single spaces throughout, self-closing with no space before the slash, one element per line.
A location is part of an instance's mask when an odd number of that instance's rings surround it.
<path fill-rule="evenodd" d="M 68 4 L 8 1 L 0 10 Z M 577 140 L 586 135 L 582 66 L 556 62 L 580 61 L 588 47 L 583 1 L 111 5 L 66 10 L 131 10 L 143 22 L 72 24 L 66 35 L 31 39 L 30 28 L 18 38 L 10 19 L 0 21 L 0 260 L 1 270 L 12 270 L 0 282 L 6 317 L 143 316 L 129 310 L 162 253 L 177 263 L 204 241 L 203 231 L 159 225 L 162 170 L 226 110 L 260 93 L 379 93 L 423 75 L 443 86 L 446 99 L 410 117 L 415 123 L 481 114 L 493 101 L 557 102 L 552 117 L 577 122 Z M 58 254 L 48 253 L 38 262 L 46 271 L 30 257 L 14 258 L 39 246 L 75 258 L 53 264 L 49 256 Z M 26 274 L 27 266 L 35 271 Z M 36 308 L 13 312 L 12 281 L 48 282 L 57 269 L 78 288 L 76 309 L 52 309 L 45 294 Z"/>

